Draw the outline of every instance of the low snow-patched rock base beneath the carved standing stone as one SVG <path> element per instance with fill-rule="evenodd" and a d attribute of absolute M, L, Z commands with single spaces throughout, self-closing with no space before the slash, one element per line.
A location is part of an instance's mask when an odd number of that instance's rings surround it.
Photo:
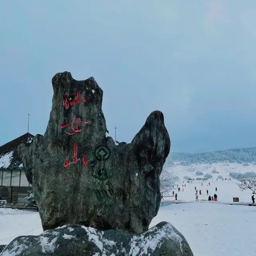
<path fill-rule="evenodd" d="M 67 225 L 39 236 L 19 236 L 1 254 L 19 256 L 193 256 L 184 236 L 168 222 L 142 234 Z"/>

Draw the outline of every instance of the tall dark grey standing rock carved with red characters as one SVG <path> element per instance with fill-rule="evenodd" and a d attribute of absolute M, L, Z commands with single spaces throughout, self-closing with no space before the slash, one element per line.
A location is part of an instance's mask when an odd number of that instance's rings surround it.
<path fill-rule="evenodd" d="M 152 112 L 131 143 L 118 143 L 108 136 L 103 91 L 93 77 L 76 81 L 69 72 L 58 73 L 52 86 L 44 136 L 18 147 L 43 230 L 65 224 L 148 230 L 160 206 L 159 176 L 170 152 L 162 112 Z M 133 122 L 132 113 L 127 118 Z"/>

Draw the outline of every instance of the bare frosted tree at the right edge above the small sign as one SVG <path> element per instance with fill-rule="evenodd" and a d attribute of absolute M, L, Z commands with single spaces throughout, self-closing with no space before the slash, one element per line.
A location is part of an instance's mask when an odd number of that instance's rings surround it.
<path fill-rule="evenodd" d="M 256 173 L 246 172 L 245 174 L 237 174 L 233 178 L 239 181 L 239 183 L 236 184 L 241 191 L 250 189 L 254 194 L 256 194 Z"/>

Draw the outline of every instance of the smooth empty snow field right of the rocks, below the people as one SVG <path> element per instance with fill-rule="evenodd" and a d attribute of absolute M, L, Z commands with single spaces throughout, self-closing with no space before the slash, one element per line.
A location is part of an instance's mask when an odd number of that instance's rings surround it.
<path fill-rule="evenodd" d="M 167 221 L 186 238 L 194 256 L 256 255 L 255 206 L 194 202 L 160 207 L 150 227 Z"/>

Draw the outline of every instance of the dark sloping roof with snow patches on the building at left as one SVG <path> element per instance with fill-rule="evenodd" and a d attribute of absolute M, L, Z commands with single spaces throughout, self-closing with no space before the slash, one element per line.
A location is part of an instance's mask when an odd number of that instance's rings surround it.
<path fill-rule="evenodd" d="M 26 133 L 0 146 L 0 169 L 23 169 L 17 148 L 22 143 L 31 143 L 34 135 Z"/>

